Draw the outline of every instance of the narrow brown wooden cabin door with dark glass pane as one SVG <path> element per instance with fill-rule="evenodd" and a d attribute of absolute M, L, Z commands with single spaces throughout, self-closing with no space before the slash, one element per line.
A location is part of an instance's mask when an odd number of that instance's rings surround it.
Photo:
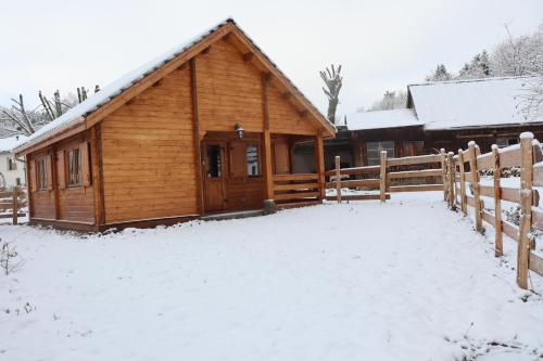
<path fill-rule="evenodd" d="M 225 142 L 204 142 L 202 156 L 205 211 L 226 209 Z"/>

